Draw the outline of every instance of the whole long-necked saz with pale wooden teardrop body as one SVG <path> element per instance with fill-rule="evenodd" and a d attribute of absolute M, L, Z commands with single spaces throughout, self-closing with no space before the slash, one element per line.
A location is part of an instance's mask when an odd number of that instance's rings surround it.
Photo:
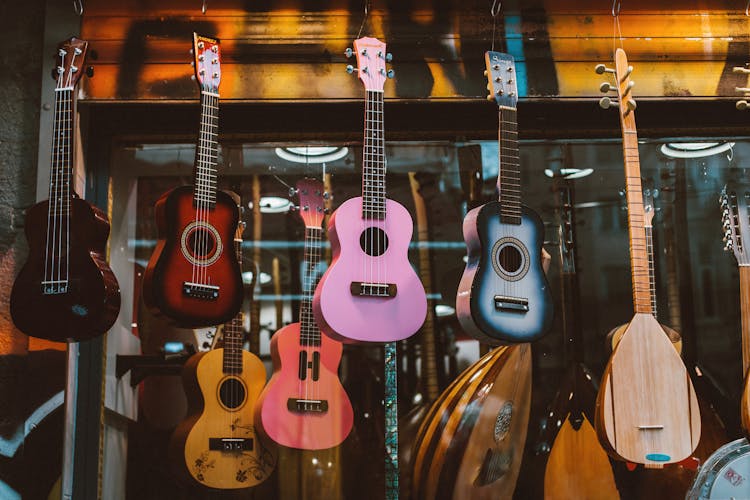
<path fill-rule="evenodd" d="M 614 457 L 658 467 L 690 456 L 700 438 L 700 411 L 685 365 L 651 308 L 633 68 L 622 49 L 615 53 L 615 66 L 599 65 L 597 72 L 614 74 L 612 89 L 619 97 L 635 315 L 605 368 L 596 430 Z M 609 97 L 603 101 L 611 103 Z"/>

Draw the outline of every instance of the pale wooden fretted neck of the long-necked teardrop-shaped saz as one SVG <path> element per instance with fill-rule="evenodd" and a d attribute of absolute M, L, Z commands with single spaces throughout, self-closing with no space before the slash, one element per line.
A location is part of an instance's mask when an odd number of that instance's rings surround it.
<path fill-rule="evenodd" d="M 633 308 L 637 313 L 653 313 L 649 277 L 648 249 L 643 218 L 641 165 L 638 155 L 638 135 L 635 126 L 623 128 L 622 141 L 625 158 L 625 199 L 628 205 L 628 233 L 630 235 L 630 272 L 633 279 Z"/>

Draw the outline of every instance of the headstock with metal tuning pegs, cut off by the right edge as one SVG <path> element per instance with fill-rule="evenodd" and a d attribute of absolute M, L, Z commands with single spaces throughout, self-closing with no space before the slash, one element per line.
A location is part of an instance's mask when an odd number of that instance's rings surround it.
<path fill-rule="evenodd" d="M 750 265 L 750 190 L 724 186 L 719 196 L 721 225 L 724 230 L 724 250 L 734 253 L 737 264 Z"/>

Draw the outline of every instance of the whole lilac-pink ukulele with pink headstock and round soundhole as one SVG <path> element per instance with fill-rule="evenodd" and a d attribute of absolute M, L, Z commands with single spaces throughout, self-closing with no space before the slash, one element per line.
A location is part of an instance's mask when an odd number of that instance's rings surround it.
<path fill-rule="evenodd" d="M 333 259 L 315 290 L 313 311 L 323 332 L 342 342 L 393 342 L 424 322 L 427 299 L 407 255 L 413 223 L 401 204 L 385 197 L 383 84 L 390 54 L 375 38 L 354 41 L 365 85 L 362 196 L 331 216 Z M 351 50 L 347 49 L 347 55 Z"/>

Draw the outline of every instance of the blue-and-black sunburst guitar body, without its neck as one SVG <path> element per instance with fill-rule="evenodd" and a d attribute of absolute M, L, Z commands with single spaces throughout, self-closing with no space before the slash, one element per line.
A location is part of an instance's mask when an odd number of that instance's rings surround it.
<path fill-rule="evenodd" d="M 500 203 L 490 202 L 464 219 L 468 262 L 458 286 L 456 314 L 463 329 L 480 342 L 533 342 L 552 326 L 552 297 L 542 269 L 544 226 L 528 207 L 522 206 L 522 214 L 520 225 L 505 224 Z M 506 252 L 510 259 L 503 263 Z M 521 304 L 505 307 L 500 297 L 524 301 L 528 310 L 514 307 Z"/>

